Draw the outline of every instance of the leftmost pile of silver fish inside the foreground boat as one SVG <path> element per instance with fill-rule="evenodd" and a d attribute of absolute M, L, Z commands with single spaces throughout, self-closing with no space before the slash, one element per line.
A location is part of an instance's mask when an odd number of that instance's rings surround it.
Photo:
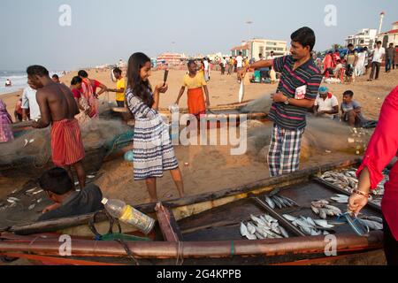
<path fill-rule="evenodd" d="M 257 218 L 250 216 L 251 222 L 246 225 L 241 223 L 241 235 L 249 240 L 282 239 L 288 238 L 289 234 L 282 226 L 279 226 L 277 219 L 265 214 Z"/>

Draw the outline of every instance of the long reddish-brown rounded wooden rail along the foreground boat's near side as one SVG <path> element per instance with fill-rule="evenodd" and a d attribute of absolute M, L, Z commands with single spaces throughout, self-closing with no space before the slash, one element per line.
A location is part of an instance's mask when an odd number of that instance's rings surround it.
<path fill-rule="evenodd" d="M 1 235 L 0 235 L 1 237 Z M 0 252 L 29 252 L 34 255 L 58 256 L 59 242 L 56 239 L 34 241 L 0 241 Z M 79 241 L 73 240 L 73 256 L 127 256 L 124 249 L 115 241 Z M 325 253 L 325 236 L 296 237 L 289 239 L 270 239 L 262 241 L 206 241 L 184 242 L 183 246 L 175 242 L 128 242 L 128 248 L 136 258 L 225 258 L 231 256 L 295 256 L 319 255 Z M 358 253 L 382 249 L 383 232 L 371 232 L 368 237 L 356 234 L 337 234 L 336 251 L 339 253 Z"/>

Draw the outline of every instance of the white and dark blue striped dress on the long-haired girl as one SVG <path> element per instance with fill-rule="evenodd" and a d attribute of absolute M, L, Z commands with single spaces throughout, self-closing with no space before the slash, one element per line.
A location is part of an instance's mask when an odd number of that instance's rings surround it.
<path fill-rule="evenodd" d="M 179 167 L 169 127 L 159 113 L 134 96 L 131 89 L 126 91 L 126 101 L 135 117 L 134 180 L 162 178 L 163 172 Z"/>

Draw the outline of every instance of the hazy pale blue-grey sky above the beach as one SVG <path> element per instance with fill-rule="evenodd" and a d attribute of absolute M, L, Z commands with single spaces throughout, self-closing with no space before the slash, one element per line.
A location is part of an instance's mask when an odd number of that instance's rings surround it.
<path fill-rule="evenodd" d="M 62 4 L 72 8 L 71 27 L 58 24 Z M 325 26 L 327 4 L 337 8 L 337 27 Z M 114 64 L 135 51 L 150 57 L 163 51 L 229 54 L 249 34 L 289 42 L 303 26 L 315 30 L 316 50 L 325 50 L 361 28 L 378 28 L 380 11 L 387 13 L 384 31 L 398 20 L 397 0 L 12 0 L 0 5 L 0 70 L 32 64 L 72 70 Z"/>

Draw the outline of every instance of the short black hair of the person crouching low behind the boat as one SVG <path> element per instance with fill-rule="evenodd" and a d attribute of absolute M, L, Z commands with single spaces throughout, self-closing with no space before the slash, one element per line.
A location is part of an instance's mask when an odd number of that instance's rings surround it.
<path fill-rule="evenodd" d="M 53 168 L 44 172 L 39 179 L 39 185 L 43 190 L 56 195 L 65 195 L 73 190 L 73 182 L 68 172 L 62 168 Z"/>

